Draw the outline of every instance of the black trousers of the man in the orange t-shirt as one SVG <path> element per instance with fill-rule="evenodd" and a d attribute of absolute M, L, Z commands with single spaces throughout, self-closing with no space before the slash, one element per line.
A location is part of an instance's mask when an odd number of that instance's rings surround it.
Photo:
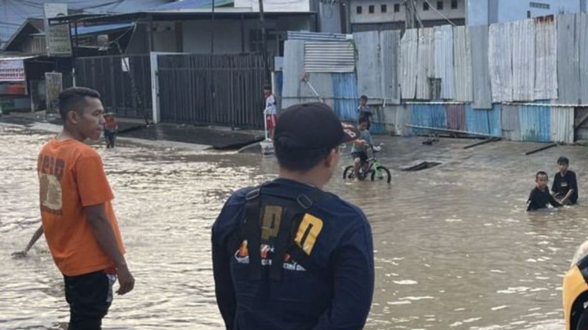
<path fill-rule="evenodd" d="M 69 304 L 68 330 L 101 330 L 102 318 L 112 302 L 114 275 L 104 271 L 65 276 L 65 299 Z"/>

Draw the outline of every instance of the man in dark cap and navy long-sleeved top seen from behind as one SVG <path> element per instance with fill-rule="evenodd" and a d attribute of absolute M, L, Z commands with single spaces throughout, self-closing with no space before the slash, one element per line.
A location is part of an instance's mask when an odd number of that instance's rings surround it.
<path fill-rule="evenodd" d="M 322 187 L 358 138 L 323 103 L 286 109 L 279 178 L 232 194 L 212 228 L 216 300 L 231 330 L 362 329 L 373 295 L 372 231 Z"/>

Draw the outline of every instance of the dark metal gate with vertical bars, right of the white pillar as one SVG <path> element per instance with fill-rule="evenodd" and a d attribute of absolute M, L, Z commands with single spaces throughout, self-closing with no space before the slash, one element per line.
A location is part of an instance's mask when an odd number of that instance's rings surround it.
<path fill-rule="evenodd" d="M 158 56 L 162 122 L 263 127 L 263 56 Z"/>

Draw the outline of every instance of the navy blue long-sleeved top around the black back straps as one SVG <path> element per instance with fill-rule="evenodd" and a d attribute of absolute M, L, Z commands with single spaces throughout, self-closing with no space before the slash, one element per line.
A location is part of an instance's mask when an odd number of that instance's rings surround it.
<path fill-rule="evenodd" d="M 277 179 L 264 194 L 296 198 L 312 187 Z M 249 280 L 248 257 L 228 248 L 245 214 L 251 188 L 233 193 L 212 228 L 216 300 L 227 329 L 362 329 L 372 304 L 372 230 L 363 212 L 339 197 L 315 203 L 308 214 L 322 221 L 309 258 L 320 265 L 305 270 L 295 260 L 283 267 L 282 281 Z M 263 248 L 262 248 L 263 253 Z"/>

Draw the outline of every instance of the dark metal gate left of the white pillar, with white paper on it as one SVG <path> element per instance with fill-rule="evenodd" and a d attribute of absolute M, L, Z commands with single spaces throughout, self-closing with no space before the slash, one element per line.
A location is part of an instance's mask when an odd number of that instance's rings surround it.
<path fill-rule="evenodd" d="M 152 117 L 149 55 L 77 58 L 76 85 L 98 90 L 107 111 L 121 117 Z"/>

